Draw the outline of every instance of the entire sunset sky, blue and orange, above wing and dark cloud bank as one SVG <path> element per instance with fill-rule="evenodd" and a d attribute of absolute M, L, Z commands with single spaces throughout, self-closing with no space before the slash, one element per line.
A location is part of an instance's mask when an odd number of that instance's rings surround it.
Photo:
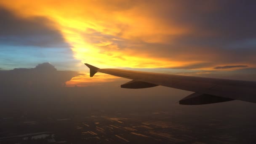
<path fill-rule="evenodd" d="M 99 68 L 256 80 L 254 0 L 0 0 L 0 69 L 48 62 Z M 89 82 L 92 80 L 92 82 Z"/>

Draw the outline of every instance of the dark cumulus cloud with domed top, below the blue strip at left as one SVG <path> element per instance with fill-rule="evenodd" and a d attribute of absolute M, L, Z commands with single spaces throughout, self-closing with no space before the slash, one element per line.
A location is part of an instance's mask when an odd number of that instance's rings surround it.
<path fill-rule="evenodd" d="M 35 68 L 16 68 L 0 71 L 0 89 L 2 91 L 15 91 L 20 89 L 59 88 L 72 77 L 77 76 L 74 71 L 58 71 L 49 63 L 38 64 Z"/>

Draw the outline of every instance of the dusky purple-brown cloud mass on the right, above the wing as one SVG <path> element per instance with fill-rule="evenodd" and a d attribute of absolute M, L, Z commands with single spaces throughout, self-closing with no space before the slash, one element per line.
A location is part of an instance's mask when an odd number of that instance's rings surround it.
<path fill-rule="evenodd" d="M 222 63 L 255 64 L 255 5 L 252 0 L 167 0 L 148 4 L 149 16 L 187 28 L 188 32 L 166 35 L 164 43 L 142 42 L 139 50 L 174 61 L 203 61 L 186 66 L 192 69 Z"/>

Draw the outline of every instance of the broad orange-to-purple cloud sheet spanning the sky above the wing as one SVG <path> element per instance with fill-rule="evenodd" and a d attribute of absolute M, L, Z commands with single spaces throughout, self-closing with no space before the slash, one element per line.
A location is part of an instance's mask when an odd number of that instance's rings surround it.
<path fill-rule="evenodd" d="M 22 1 L 26 10 L 2 3 L 22 16 L 54 20 L 75 59 L 98 66 L 256 67 L 254 1 Z"/>

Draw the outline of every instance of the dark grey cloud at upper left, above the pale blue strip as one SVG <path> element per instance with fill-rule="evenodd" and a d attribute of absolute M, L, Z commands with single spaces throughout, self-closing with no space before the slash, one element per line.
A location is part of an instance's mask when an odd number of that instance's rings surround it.
<path fill-rule="evenodd" d="M 0 44 L 69 47 L 54 23 L 45 17 L 21 18 L 0 8 Z"/>

